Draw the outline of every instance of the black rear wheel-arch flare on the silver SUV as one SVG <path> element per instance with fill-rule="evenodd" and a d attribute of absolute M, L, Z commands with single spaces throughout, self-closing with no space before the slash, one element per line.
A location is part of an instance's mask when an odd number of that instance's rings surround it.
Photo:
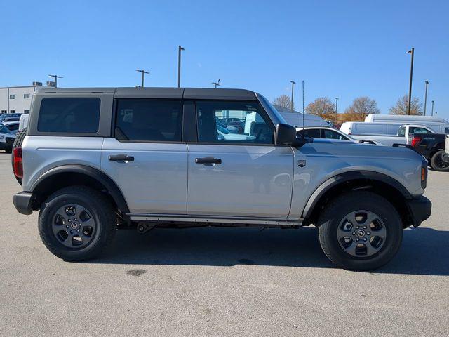
<path fill-rule="evenodd" d="M 94 169 L 91 166 L 85 165 L 62 165 L 56 166 L 53 169 L 46 171 L 43 173 L 41 177 L 39 177 L 36 182 L 32 185 L 29 192 L 36 192 L 39 189 L 42 183 L 45 183 L 47 178 L 51 178 L 60 173 L 81 173 L 83 175 L 89 176 L 95 180 L 98 180 L 100 184 L 105 186 L 107 192 L 111 195 L 112 199 L 114 199 L 117 206 L 123 213 L 130 213 L 128 204 L 126 203 L 126 199 L 123 197 L 123 193 L 119 189 L 119 187 L 114 183 L 114 180 L 109 178 L 104 172 Z"/>

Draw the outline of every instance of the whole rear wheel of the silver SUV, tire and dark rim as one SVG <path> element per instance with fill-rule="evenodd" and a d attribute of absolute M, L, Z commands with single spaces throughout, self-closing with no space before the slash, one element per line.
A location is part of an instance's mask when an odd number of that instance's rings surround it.
<path fill-rule="evenodd" d="M 88 187 L 66 187 L 45 201 L 39 214 L 43 244 L 58 258 L 97 257 L 114 239 L 114 209 L 102 193 Z"/>

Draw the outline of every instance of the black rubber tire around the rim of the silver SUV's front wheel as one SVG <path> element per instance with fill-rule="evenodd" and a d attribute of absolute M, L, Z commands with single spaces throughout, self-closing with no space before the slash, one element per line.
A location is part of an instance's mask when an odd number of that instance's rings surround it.
<path fill-rule="evenodd" d="M 346 221 L 347 216 L 351 212 L 361 210 L 375 214 L 378 219 L 375 221 L 382 223 L 382 227 L 384 227 L 384 232 L 386 233 L 384 239 L 382 239 L 382 245 L 376 253 L 368 257 L 355 256 L 348 253 L 342 246 L 345 242 L 341 241 L 337 235 L 337 232 L 342 228 L 342 223 Z M 378 194 L 366 191 L 348 192 L 330 201 L 326 209 L 319 216 L 317 225 L 319 225 L 319 240 L 324 253 L 333 263 L 347 270 L 374 270 L 382 267 L 382 265 L 388 263 L 396 255 L 403 237 L 401 218 L 394 206 Z M 351 240 L 351 244 L 356 244 L 356 249 L 362 249 L 363 253 L 363 246 L 370 244 L 370 237 L 368 237 L 368 242 L 364 243 L 362 241 L 365 240 L 364 236 L 359 238 L 358 234 L 356 234 L 353 237 L 354 233 L 356 233 L 355 231 L 353 232 L 350 229 L 347 239 Z M 372 234 L 370 232 L 366 233 Z M 373 239 L 375 239 L 374 236 L 375 234 L 373 234 Z M 352 241 L 353 239 L 354 241 Z M 360 243 L 358 243 L 359 239 L 361 240 Z M 364 247 L 367 252 L 367 246 Z"/>

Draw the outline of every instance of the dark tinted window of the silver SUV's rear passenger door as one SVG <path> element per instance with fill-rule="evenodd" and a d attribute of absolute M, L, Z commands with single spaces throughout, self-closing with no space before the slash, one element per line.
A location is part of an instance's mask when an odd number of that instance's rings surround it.
<path fill-rule="evenodd" d="M 180 142 L 182 109 L 179 100 L 119 100 L 116 138 Z"/>

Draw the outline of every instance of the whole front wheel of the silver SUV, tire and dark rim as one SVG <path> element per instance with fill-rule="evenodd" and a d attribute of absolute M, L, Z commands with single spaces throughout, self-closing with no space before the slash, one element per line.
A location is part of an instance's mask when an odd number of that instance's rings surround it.
<path fill-rule="evenodd" d="M 403 236 L 394 206 L 365 191 L 349 192 L 330 201 L 317 225 L 326 256 L 348 270 L 385 265 L 396 255 Z"/>

